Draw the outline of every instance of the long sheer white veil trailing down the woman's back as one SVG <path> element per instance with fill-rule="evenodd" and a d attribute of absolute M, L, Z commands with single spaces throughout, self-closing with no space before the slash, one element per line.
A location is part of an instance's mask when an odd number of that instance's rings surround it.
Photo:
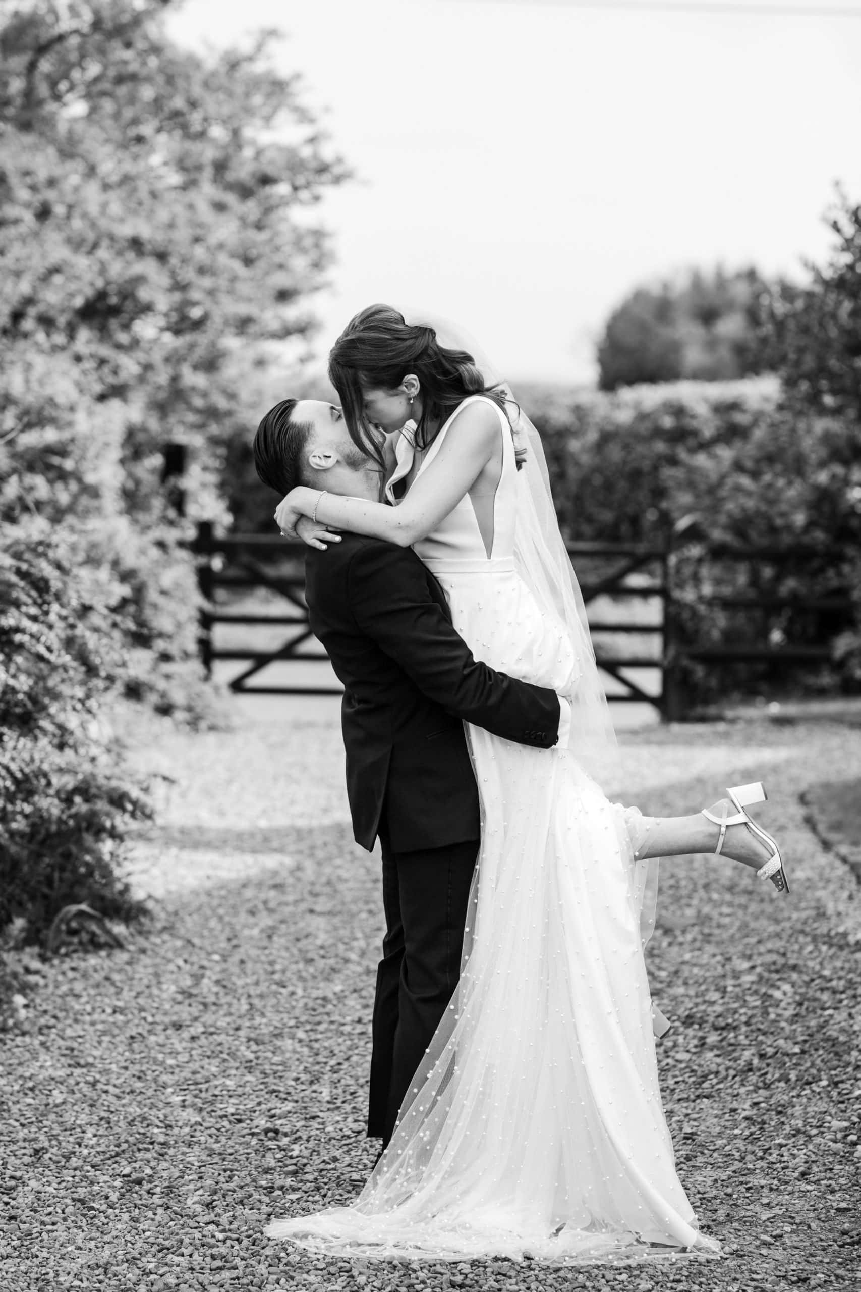
<path fill-rule="evenodd" d="M 506 397 L 515 446 L 525 452 L 518 472 L 515 563 L 542 612 L 562 619 L 574 645 L 580 676 L 568 696 L 572 704 L 568 748 L 589 771 L 603 778 L 614 769 L 618 745 L 595 662 L 586 605 L 559 531 L 541 437 L 503 375 L 465 328 L 426 310 L 396 307 L 410 326 L 432 327 L 441 346 L 471 354 L 485 384 Z"/>

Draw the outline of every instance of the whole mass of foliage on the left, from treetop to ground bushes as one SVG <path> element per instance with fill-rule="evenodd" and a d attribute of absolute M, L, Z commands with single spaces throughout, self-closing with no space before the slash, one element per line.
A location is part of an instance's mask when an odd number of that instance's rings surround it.
<path fill-rule="evenodd" d="M 270 37 L 203 56 L 167 6 L 0 17 L 0 933 L 30 938 L 71 902 L 138 912 L 116 862 L 146 798 L 101 711 L 208 720 L 187 540 L 230 519 L 227 446 L 305 348 L 309 208 L 347 173 Z"/>

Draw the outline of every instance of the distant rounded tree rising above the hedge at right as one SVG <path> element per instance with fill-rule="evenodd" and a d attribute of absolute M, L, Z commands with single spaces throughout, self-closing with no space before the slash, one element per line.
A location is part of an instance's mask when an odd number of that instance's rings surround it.
<path fill-rule="evenodd" d="M 764 371 L 756 318 L 767 284 L 754 269 L 694 270 L 639 287 L 611 315 L 598 348 L 602 390 L 638 382 L 732 380 Z"/>

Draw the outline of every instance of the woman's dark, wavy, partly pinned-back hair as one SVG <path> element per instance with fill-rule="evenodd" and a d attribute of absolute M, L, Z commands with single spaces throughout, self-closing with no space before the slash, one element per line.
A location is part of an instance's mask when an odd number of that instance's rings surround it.
<path fill-rule="evenodd" d="M 487 395 L 507 416 L 505 393 L 485 384 L 471 354 L 440 345 L 432 327 L 407 323 L 391 305 L 369 305 L 350 319 L 332 346 L 329 381 L 338 391 L 352 442 L 381 466 L 383 455 L 364 413 L 361 386 L 395 390 L 410 372 L 418 377 L 422 397 L 418 448 L 432 443 L 443 422 L 469 395 Z"/>

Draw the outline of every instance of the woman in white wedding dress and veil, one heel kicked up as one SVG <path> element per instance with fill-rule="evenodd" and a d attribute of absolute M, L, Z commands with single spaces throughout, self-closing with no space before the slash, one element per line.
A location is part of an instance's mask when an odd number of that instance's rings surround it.
<path fill-rule="evenodd" d="M 478 659 L 571 699 L 572 739 L 467 727 L 481 846 L 460 985 L 356 1202 L 267 1233 L 364 1257 L 714 1256 L 675 1172 L 643 946 L 658 855 L 723 846 L 787 890 L 745 811 L 764 792 L 661 820 L 604 797 L 589 766 L 612 726 L 541 444 L 474 353 L 389 306 L 356 315 L 329 375 L 394 505 L 299 487 L 276 519 L 413 545 Z"/>

